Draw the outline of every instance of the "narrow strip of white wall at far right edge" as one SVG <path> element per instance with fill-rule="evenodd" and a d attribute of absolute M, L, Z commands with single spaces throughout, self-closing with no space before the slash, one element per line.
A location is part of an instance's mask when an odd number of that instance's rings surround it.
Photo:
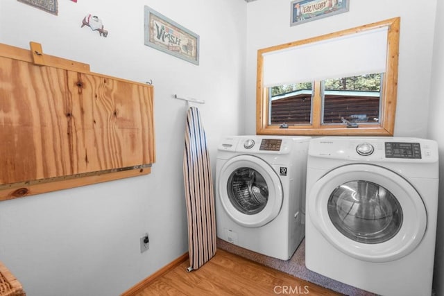
<path fill-rule="evenodd" d="M 436 6 L 436 31 L 433 52 L 432 87 L 430 91 L 428 137 L 438 141 L 440 157 L 440 186 L 438 200 L 438 229 L 436 230 L 436 252 L 434 289 L 436 295 L 444 295 L 444 13 L 443 1 Z"/>

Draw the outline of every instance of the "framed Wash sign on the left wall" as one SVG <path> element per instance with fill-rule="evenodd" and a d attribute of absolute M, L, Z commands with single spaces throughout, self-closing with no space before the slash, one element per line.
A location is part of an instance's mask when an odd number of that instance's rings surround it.
<path fill-rule="evenodd" d="M 145 45 L 199 64 L 199 35 L 145 6 Z"/>

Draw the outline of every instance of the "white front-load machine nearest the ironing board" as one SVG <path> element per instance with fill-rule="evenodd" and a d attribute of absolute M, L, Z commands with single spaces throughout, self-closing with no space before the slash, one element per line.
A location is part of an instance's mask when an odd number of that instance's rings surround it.
<path fill-rule="evenodd" d="M 216 161 L 219 238 L 260 254 L 290 259 L 305 236 L 309 139 L 222 139 Z"/>

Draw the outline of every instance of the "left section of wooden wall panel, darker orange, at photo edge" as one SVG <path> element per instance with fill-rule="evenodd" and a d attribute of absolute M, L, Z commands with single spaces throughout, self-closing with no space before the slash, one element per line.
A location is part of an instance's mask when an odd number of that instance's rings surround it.
<path fill-rule="evenodd" d="M 73 173 L 64 71 L 0 57 L 0 182 Z"/>

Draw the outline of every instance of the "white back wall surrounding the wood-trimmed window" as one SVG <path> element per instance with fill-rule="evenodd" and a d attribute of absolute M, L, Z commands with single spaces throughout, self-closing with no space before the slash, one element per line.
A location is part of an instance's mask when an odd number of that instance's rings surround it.
<path fill-rule="evenodd" d="M 248 4 L 246 134 L 256 131 L 258 49 L 401 17 L 395 136 L 426 136 L 436 0 L 350 1 L 348 12 L 297 26 L 290 26 L 290 2 L 260 0 Z"/>

